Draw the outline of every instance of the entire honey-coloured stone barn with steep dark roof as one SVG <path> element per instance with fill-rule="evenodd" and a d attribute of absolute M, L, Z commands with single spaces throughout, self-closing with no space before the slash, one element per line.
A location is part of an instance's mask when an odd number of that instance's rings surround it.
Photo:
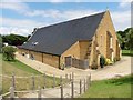
<path fill-rule="evenodd" d="M 121 58 L 115 29 L 106 10 L 101 13 L 38 28 L 19 47 L 19 53 L 42 63 L 88 69 L 100 66 L 100 56 Z"/>

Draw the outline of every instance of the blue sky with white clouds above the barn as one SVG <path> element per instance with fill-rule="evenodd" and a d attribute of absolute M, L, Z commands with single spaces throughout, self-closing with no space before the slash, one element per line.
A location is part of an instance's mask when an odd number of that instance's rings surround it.
<path fill-rule="evenodd" d="M 0 2 L 0 33 L 31 34 L 34 28 L 41 28 L 109 9 L 116 31 L 131 27 L 131 2 L 63 2 L 63 0 Z M 126 2 L 125 2 L 126 1 Z"/>

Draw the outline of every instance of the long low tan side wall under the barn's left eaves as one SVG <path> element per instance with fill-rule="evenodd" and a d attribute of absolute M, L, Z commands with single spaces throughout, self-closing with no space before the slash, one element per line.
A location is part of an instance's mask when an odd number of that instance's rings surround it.
<path fill-rule="evenodd" d="M 29 51 L 29 50 L 24 50 L 24 49 L 19 49 L 18 52 L 19 53 L 27 53 L 29 56 L 33 54 L 34 60 L 38 60 L 40 62 L 43 62 L 43 63 L 50 64 L 52 67 L 59 68 L 60 61 L 59 61 L 58 56 Z"/>

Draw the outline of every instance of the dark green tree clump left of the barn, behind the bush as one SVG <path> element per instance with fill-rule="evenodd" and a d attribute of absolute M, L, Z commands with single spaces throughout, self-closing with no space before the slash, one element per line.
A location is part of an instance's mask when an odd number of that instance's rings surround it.
<path fill-rule="evenodd" d="M 27 37 L 18 36 L 18 34 L 2 36 L 2 41 L 7 42 L 10 46 L 21 46 L 27 40 L 28 40 Z"/>

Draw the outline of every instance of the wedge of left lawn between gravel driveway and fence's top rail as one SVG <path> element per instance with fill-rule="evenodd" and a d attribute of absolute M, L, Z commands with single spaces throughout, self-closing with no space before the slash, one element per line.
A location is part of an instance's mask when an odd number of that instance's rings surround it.
<path fill-rule="evenodd" d="M 13 72 L 16 76 L 42 74 L 41 72 L 32 69 L 31 67 L 18 60 L 2 61 L 2 74 L 11 76 Z"/>

